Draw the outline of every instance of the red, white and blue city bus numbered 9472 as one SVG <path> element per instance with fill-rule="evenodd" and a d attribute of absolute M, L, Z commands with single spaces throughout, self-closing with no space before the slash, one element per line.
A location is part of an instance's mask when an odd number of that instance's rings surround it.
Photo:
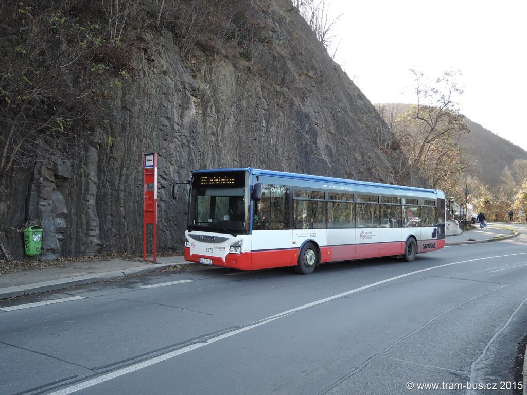
<path fill-rule="evenodd" d="M 251 167 L 196 170 L 189 183 L 190 262 L 308 274 L 327 262 L 411 262 L 445 245 L 445 195 L 437 190 Z"/>

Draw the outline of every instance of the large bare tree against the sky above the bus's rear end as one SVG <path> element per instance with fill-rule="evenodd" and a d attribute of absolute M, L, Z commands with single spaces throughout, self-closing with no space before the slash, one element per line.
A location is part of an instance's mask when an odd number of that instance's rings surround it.
<path fill-rule="evenodd" d="M 434 188 L 455 193 L 470 169 L 460 142 L 469 129 L 455 102 L 462 94 L 458 72 L 444 73 L 430 83 L 422 73 L 416 77 L 417 104 L 380 111 L 390 126 L 409 164 Z"/>

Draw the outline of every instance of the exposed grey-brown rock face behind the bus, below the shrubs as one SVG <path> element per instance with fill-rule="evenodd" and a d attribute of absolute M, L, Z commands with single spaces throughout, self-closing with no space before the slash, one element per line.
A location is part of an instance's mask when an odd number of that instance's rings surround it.
<path fill-rule="evenodd" d="M 383 121 L 286 0 L 247 2 L 271 44 L 250 61 L 228 51 L 191 59 L 177 40 L 142 33 L 134 75 L 119 88 L 106 131 L 70 161 L 47 160 L 0 181 L 4 244 L 23 258 L 25 224 L 43 229 L 41 258 L 142 251 L 142 154 L 159 154 L 158 251 L 180 251 L 192 170 L 251 166 L 424 185 L 375 146 Z"/>

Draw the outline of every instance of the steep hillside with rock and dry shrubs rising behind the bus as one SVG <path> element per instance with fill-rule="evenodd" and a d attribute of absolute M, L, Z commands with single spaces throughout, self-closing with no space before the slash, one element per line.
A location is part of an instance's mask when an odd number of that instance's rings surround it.
<path fill-rule="evenodd" d="M 412 169 L 397 171 L 397 147 L 375 148 L 371 131 L 382 119 L 290 1 L 168 3 L 180 8 L 161 13 L 159 2 L 135 3 L 122 36 L 112 41 L 105 33 L 108 18 L 103 8 L 95 8 L 97 2 L 34 2 L 24 13 L 17 8 L 22 3 L 5 3 L 0 44 L 6 50 L 0 54 L 11 53 L 12 41 L 23 45 L 32 40 L 21 26 L 42 20 L 35 51 L 51 43 L 60 54 L 77 45 L 80 54 L 72 51 L 67 60 L 50 57 L 46 70 L 37 69 L 32 78 L 53 67 L 59 75 L 67 71 L 63 95 L 72 103 L 89 97 L 77 103 L 81 111 L 97 105 L 84 118 L 55 120 L 58 126 L 43 135 L 46 140 L 31 145 L 28 139 L 25 152 L 34 153 L 34 160 L 19 154 L 9 172 L 0 174 L 0 237 L 16 258 L 24 258 L 19 231 L 27 224 L 42 225 L 41 256 L 46 259 L 142 251 L 141 158 L 146 152 L 159 153 L 160 252 L 181 251 L 187 196 L 172 200 L 171 185 L 174 179 L 189 179 L 194 169 L 252 166 L 425 184 Z M 24 17 L 27 13 L 31 19 Z M 50 18 L 50 13 L 60 17 Z M 1 67 L 34 63 L 25 47 L 16 48 L 12 56 L 18 63 L 4 58 Z M 91 92 L 70 92 L 93 75 L 99 79 L 90 80 L 96 87 Z M 32 78 L 24 76 L 13 89 Z M 12 111 L 0 118 L 0 149 L 6 152 L 11 145 L 4 145 L 10 144 L 5 125 L 19 119 L 17 111 L 24 107 L 13 103 L 24 97 L 2 102 Z M 39 97 L 35 111 L 25 115 L 44 116 L 64 103 L 44 99 Z M 39 119 L 33 120 L 33 130 L 42 130 Z M 70 140 L 51 138 L 66 130 Z M 61 151 L 64 146 L 67 154 Z"/>

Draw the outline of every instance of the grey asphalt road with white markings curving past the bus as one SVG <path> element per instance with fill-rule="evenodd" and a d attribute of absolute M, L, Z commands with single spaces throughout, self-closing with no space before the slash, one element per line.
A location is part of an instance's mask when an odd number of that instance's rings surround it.
<path fill-rule="evenodd" d="M 527 335 L 526 246 L 309 275 L 167 271 L 0 302 L 0 393 L 521 393 L 507 388 Z"/>

